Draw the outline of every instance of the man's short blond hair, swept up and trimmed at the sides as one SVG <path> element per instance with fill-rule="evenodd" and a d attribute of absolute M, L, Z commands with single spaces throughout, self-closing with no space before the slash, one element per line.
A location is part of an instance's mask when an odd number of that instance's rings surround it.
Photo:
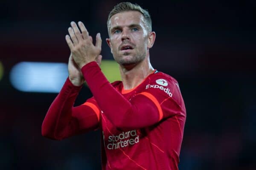
<path fill-rule="evenodd" d="M 145 18 L 145 21 L 146 21 L 145 24 L 147 26 L 148 31 L 149 32 L 152 31 L 152 21 L 151 21 L 151 17 L 149 15 L 148 11 L 141 8 L 138 4 L 133 4 L 133 3 L 130 3 L 130 2 L 123 2 L 123 3 L 119 3 L 116 6 L 114 6 L 112 11 L 108 15 L 108 21 L 107 21 L 108 28 L 109 28 L 110 18 L 114 14 L 118 14 L 118 13 L 125 12 L 125 11 L 138 11 L 141 14 L 143 14 L 143 17 Z"/>

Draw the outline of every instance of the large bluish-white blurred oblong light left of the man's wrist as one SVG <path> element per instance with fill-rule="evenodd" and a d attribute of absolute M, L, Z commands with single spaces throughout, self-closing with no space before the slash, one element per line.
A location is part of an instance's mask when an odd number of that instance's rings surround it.
<path fill-rule="evenodd" d="M 19 91 L 58 93 L 68 77 L 67 64 L 20 62 L 10 72 L 10 81 Z"/>

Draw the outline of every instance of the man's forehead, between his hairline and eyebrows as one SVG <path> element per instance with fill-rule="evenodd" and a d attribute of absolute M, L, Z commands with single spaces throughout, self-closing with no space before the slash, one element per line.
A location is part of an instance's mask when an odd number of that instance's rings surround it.
<path fill-rule="evenodd" d="M 109 27 L 114 26 L 129 26 L 131 24 L 138 24 L 143 27 L 145 19 L 143 14 L 139 11 L 125 11 L 114 14 L 109 20 Z"/>

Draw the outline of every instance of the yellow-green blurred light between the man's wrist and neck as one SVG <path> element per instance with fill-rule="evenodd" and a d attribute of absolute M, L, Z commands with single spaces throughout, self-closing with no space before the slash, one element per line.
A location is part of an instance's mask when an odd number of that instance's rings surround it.
<path fill-rule="evenodd" d="M 102 60 L 100 68 L 109 82 L 121 80 L 119 65 L 114 60 Z"/>

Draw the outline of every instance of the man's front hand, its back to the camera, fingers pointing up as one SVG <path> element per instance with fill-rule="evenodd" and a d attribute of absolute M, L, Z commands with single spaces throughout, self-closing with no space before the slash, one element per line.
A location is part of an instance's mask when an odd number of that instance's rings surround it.
<path fill-rule="evenodd" d="M 93 39 L 89 36 L 87 29 L 82 22 L 79 22 L 79 28 L 75 22 L 71 22 L 72 28 L 68 28 L 70 34 L 66 35 L 66 41 L 70 48 L 72 58 L 79 68 L 82 68 L 89 62 L 96 61 L 98 64 L 101 62 L 102 40 L 100 34 L 96 35 L 96 44 L 93 45 Z M 71 37 L 71 38 L 70 38 Z"/>

